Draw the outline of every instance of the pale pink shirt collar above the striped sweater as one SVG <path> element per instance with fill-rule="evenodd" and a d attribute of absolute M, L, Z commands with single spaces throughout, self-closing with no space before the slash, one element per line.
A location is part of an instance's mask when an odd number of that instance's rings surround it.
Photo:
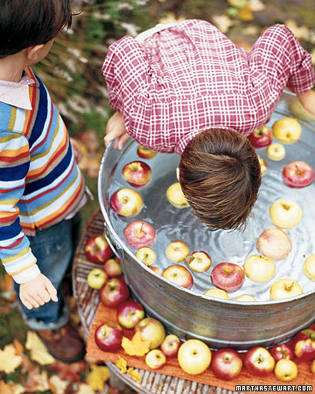
<path fill-rule="evenodd" d="M 31 110 L 29 85 L 35 83 L 25 71 L 19 82 L 0 80 L 0 101 L 24 110 Z"/>

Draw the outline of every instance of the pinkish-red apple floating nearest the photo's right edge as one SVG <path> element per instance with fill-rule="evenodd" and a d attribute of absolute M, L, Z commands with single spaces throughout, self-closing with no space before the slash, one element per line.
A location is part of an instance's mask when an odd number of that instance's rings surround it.
<path fill-rule="evenodd" d="M 292 162 L 282 170 L 282 180 L 290 188 L 304 188 L 313 183 L 313 168 L 305 162 Z"/>

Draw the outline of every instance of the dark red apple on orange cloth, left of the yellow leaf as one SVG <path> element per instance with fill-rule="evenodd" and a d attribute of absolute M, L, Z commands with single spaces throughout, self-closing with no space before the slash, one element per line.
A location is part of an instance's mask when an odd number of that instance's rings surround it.
<path fill-rule="evenodd" d="M 122 340 L 122 329 L 115 322 L 100 324 L 95 330 L 95 343 L 104 351 L 116 351 Z"/>

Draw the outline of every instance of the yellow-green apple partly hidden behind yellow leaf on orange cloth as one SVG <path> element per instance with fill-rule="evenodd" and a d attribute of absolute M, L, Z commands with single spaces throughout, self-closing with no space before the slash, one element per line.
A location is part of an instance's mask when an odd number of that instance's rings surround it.
<path fill-rule="evenodd" d="M 155 318 L 144 318 L 135 326 L 135 331 L 139 331 L 143 340 L 150 341 L 150 349 L 155 349 L 161 345 L 165 338 L 165 329 L 161 322 Z"/>

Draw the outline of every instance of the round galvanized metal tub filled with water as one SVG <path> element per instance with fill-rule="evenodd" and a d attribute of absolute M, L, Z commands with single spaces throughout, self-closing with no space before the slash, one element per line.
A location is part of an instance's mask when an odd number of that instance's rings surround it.
<path fill-rule="evenodd" d="M 295 95 L 284 93 L 267 125 L 271 127 L 274 121 L 284 116 L 296 117 L 289 109 L 293 100 L 296 100 Z M 315 123 L 298 120 L 302 125 L 302 136 L 298 142 L 285 145 L 286 156 L 282 161 L 268 159 L 265 148 L 257 151 L 267 161 L 268 171 L 263 177 L 259 198 L 253 209 L 254 217 L 250 218 L 244 232 L 209 232 L 192 215 L 190 208 L 178 209 L 168 204 L 165 191 L 176 182 L 175 168 L 180 160 L 176 154 L 158 154 L 154 159 L 145 160 L 153 173 L 151 182 L 145 188 L 137 189 L 143 196 L 145 208 L 132 218 L 117 216 L 109 207 L 109 199 L 118 188 L 130 187 L 123 180 L 121 170 L 126 163 L 139 160 L 135 153 L 137 143 L 128 141 L 122 151 L 113 149 L 112 145 L 106 149 L 98 175 L 98 198 L 109 232 L 108 241 L 122 260 L 133 296 L 141 302 L 149 316 L 163 322 L 167 331 L 184 340 L 199 338 L 213 348 L 231 346 L 247 349 L 254 345 L 272 346 L 288 340 L 314 321 L 315 282 L 305 277 L 302 264 L 306 257 L 315 253 L 315 185 L 291 189 L 284 186 L 281 179 L 284 165 L 295 160 L 303 160 L 315 168 Z M 268 208 L 280 198 L 291 198 L 300 203 L 304 217 L 298 226 L 287 231 L 293 248 L 285 260 L 276 263 L 276 274 L 272 280 L 257 287 L 246 278 L 242 288 L 231 295 L 231 300 L 204 296 L 204 290 L 213 287 L 209 273 L 215 264 L 230 261 L 242 265 L 247 256 L 257 254 L 259 234 L 274 227 Z M 213 260 L 211 269 L 204 274 L 193 273 L 194 286 L 190 290 L 156 274 L 136 258 L 135 250 L 124 240 L 123 229 L 133 220 L 147 221 L 156 229 L 158 241 L 152 248 L 158 256 L 155 265 L 161 269 L 171 264 L 164 251 L 167 244 L 176 239 L 185 241 L 191 251 L 209 252 Z M 303 294 L 270 301 L 271 284 L 283 277 L 297 280 Z M 257 302 L 233 300 L 244 293 L 254 295 Z"/>

